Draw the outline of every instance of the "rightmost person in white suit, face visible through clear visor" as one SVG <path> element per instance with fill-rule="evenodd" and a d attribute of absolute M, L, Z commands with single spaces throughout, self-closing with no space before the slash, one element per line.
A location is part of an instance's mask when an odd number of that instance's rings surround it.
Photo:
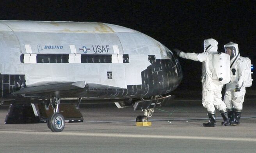
<path fill-rule="evenodd" d="M 231 81 L 226 84 L 224 103 L 228 109 L 231 125 L 239 125 L 245 96 L 245 63 L 240 58 L 238 44 L 230 42 L 224 45 L 226 54 L 230 56 Z"/>

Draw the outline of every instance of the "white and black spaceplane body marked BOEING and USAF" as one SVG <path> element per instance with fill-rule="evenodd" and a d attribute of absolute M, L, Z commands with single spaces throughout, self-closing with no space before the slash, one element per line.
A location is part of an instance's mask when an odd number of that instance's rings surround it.
<path fill-rule="evenodd" d="M 0 79 L 2 102 L 141 100 L 169 95 L 182 72 L 164 45 L 122 26 L 0 21 Z"/>

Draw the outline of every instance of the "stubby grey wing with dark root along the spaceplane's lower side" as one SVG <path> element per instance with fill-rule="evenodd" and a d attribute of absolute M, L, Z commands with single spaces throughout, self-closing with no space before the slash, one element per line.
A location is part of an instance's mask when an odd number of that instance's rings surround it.
<path fill-rule="evenodd" d="M 116 98 L 122 96 L 123 88 L 109 85 L 78 82 L 47 82 L 23 87 L 12 95 L 26 97 L 87 97 L 93 99 Z"/>

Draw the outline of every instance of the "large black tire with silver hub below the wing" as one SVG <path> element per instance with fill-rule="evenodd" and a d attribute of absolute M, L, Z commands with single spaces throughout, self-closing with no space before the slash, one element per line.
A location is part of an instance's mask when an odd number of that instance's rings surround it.
<path fill-rule="evenodd" d="M 49 129 L 52 130 L 52 132 L 61 132 L 64 127 L 64 116 L 60 113 L 53 113 L 53 115 L 49 118 Z"/>

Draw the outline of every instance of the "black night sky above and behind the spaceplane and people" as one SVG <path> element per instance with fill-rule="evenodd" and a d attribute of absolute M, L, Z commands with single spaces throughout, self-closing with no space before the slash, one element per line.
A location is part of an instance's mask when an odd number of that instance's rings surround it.
<path fill-rule="evenodd" d="M 177 47 L 197 53 L 203 52 L 203 40 L 212 37 L 222 52 L 224 44 L 238 43 L 241 56 L 250 57 L 256 65 L 253 0 L 5 0 L 0 2 L 0 19 L 117 24 L 145 33 L 169 49 Z M 178 90 L 200 89 L 201 63 L 186 59 L 180 62 L 184 78 Z M 251 89 L 255 88 L 254 83 Z"/>

